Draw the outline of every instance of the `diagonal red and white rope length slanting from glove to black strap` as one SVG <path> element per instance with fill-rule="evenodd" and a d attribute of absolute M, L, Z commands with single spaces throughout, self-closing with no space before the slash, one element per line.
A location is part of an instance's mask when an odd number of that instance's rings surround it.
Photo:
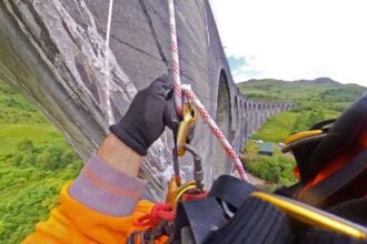
<path fill-rule="evenodd" d="M 227 152 L 228 156 L 232 160 L 236 170 L 238 171 L 239 177 L 241 180 L 245 180 L 249 182 L 248 176 L 246 174 L 246 171 L 242 166 L 242 163 L 238 156 L 238 154 L 235 152 L 230 143 L 227 141 L 224 133 L 220 131 L 216 122 L 211 119 L 208 111 L 205 109 L 200 100 L 196 96 L 196 94 L 192 92 L 191 87 L 188 84 L 181 85 L 184 94 L 188 98 L 188 100 L 197 108 L 198 112 L 204 118 L 205 122 L 209 125 L 211 132 L 216 135 L 216 138 L 220 141 L 222 148 Z"/>

